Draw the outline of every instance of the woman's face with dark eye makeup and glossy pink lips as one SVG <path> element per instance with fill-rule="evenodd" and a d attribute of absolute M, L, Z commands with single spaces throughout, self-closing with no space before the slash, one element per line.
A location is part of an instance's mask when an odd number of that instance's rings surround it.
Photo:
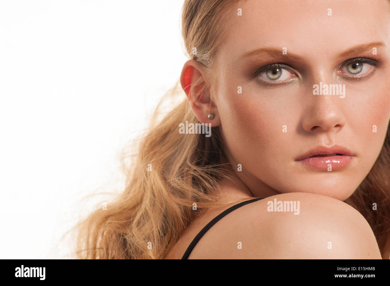
<path fill-rule="evenodd" d="M 248 0 L 238 8 L 242 16 L 226 16 L 213 65 L 218 120 L 231 163 L 242 166 L 237 174 L 258 197 L 346 200 L 378 158 L 390 118 L 389 2 Z M 355 156 L 296 160 L 335 145 Z"/>

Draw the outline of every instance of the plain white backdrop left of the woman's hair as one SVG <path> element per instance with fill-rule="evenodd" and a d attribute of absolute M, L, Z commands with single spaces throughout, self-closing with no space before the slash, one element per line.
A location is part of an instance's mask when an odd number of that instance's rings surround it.
<path fill-rule="evenodd" d="M 0 0 L 0 258 L 61 258 L 187 57 L 183 0 Z"/>

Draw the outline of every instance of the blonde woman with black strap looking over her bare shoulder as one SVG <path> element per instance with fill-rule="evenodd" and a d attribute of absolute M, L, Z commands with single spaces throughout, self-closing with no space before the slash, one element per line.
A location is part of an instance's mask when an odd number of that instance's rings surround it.
<path fill-rule="evenodd" d="M 389 1 L 185 0 L 182 20 L 186 97 L 78 257 L 389 258 Z"/>

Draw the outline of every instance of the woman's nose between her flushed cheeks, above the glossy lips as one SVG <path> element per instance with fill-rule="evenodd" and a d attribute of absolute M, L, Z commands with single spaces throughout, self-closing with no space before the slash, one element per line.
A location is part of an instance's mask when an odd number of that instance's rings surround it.
<path fill-rule="evenodd" d="M 318 77 L 317 81 L 307 88 L 307 100 L 303 115 L 303 129 L 309 133 L 339 132 L 345 125 L 345 117 L 342 112 L 342 105 L 345 98 L 340 95 L 313 94 L 314 84 L 322 86 L 324 84 L 335 84 L 331 78 Z"/>

